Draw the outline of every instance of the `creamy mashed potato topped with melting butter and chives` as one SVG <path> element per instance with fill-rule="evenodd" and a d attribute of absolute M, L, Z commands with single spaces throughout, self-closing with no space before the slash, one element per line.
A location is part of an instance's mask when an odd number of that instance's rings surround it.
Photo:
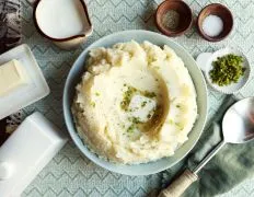
<path fill-rule="evenodd" d="M 187 69 L 169 47 L 120 43 L 91 50 L 72 113 L 89 148 L 134 164 L 173 155 L 197 117 Z"/>

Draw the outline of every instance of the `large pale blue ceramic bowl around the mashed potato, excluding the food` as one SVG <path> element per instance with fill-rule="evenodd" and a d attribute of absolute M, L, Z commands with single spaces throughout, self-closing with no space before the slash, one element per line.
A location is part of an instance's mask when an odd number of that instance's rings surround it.
<path fill-rule="evenodd" d="M 186 68 L 188 69 L 193 82 L 196 88 L 197 92 L 197 105 L 198 105 L 198 119 L 196 120 L 192 131 L 188 135 L 188 140 L 175 151 L 175 154 L 173 157 L 164 158 L 154 162 L 143 163 L 143 164 L 135 164 L 135 165 L 124 165 L 124 164 L 115 164 L 111 163 L 108 161 L 105 161 L 101 158 L 99 158 L 96 154 L 91 152 L 88 147 L 83 143 L 81 138 L 79 137 L 76 126 L 73 123 L 73 117 L 71 113 L 71 105 L 73 102 L 73 96 L 76 93 L 76 85 L 80 82 L 82 73 L 85 71 L 84 62 L 88 58 L 89 51 L 92 48 L 97 47 L 111 47 L 116 43 L 123 43 L 123 42 L 129 42 L 131 39 L 135 39 L 139 43 L 142 43 L 143 40 L 151 42 L 155 45 L 163 46 L 168 45 L 171 48 L 175 50 L 175 53 L 183 59 Z M 74 61 L 69 76 L 66 81 L 65 91 L 64 91 L 64 115 L 67 128 L 69 130 L 69 134 L 77 144 L 77 147 L 80 149 L 80 151 L 88 157 L 90 160 L 92 160 L 97 165 L 107 169 L 108 171 L 113 171 L 120 174 L 126 175 L 148 175 L 148 174 L 154 174 L 158 172 L 161 172 L 163 170 L 166 170 L 174 164 L 176 164 L 178 161 L 181 161 L 195 146 L 197 142 L 207 117 L 207 89 L 206 83 L 203 77 L 201 71 L 196 65 L 196 61 L 193 59 L 193 57 L 178 44 L 172 42 L 166 36 L 148 32 L 148 31 L 125 31 L 125 32 L 118 32 L 108 36 L 105 36 L 92 45 L 90 45 L 88 48 L 84 49 L 84 51 L 81 53 L 79 58 Z"/>

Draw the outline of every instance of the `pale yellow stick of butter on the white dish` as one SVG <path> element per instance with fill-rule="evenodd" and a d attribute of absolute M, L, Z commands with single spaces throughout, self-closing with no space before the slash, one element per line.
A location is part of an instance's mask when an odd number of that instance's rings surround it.
<path fill-rule="evenodd" d="M 15 59 L 0 66 L 0 96 L 27 84 L 27 79 L 24 67 Z"/>

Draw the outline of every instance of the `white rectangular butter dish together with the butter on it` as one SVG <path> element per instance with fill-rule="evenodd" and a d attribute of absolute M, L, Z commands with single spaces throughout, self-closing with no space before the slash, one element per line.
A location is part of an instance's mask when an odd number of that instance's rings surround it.
<path fill-rule="evenodd" d="M 30 47 L 25 44 L 0 55 L 0 119 L 50 92 Z"/>

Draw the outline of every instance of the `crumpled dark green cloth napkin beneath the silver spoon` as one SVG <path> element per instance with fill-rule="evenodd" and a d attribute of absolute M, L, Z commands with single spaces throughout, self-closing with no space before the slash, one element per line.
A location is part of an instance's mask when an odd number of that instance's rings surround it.
<path fill-rule="evenodd" d="M 207 124 L 198 143 L 192 153 L 178 165 L 163 173 L 163 187 L 184 171 L 193 170 L 222 139 L 221 121 L 226 111 L 235 100 L 226 97 L 226 101 Z M 233 132 L 233 130 L 232 130 Z M 226 193 L 254 174 L 254 143 L 229 144 L 227 143 L 215 158 L 212 158 L 199 172 L 199 179 L 184 193 L 184 197 L 208 197 Z"/>

